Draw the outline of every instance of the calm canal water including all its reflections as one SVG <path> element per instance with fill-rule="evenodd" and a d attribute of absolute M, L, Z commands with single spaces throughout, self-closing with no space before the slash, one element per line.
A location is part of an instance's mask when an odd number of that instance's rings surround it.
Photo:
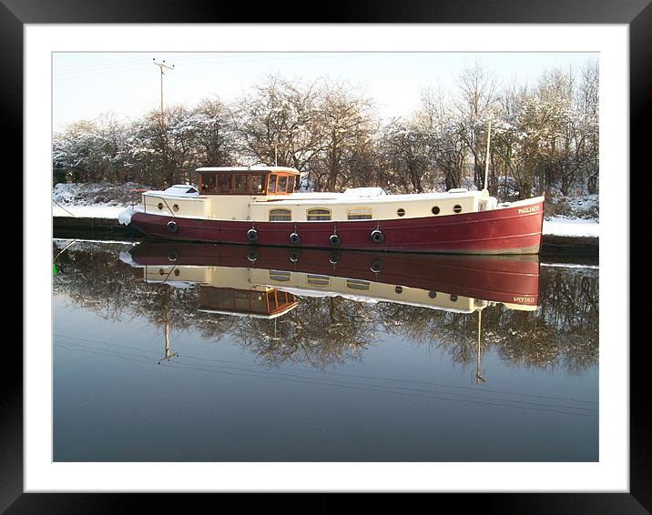
<path fill-rule="evenodd" d="M 599 458 L 595 267 L 69 243 L 56 461 Z"/>

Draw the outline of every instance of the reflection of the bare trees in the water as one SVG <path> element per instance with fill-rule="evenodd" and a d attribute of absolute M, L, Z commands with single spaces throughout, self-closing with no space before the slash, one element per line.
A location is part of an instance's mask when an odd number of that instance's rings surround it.
<path fill-rule="evenodd" d="M 57 256 L 60 248 L 54 248 Z M 263 362 L 301 362 L 316 368 L 362 358 L 384 331 L 443 348 L 453 363 L 473 367 L 477 313 L 452 313 L 341 297 L 298 298 L 297 308 L 276 319 L 240 318 L 199 311 L 198 288 L 143 282 L 143 271 L 117 259 L 117 247 L 77 243 L 56 258 L 55 295 L 106 318 L 146 318 L 177 330 L 199 330 L 218 341 L 231 335 Z M 592 269 L 541 268 L 539 308 L 502 305 L 482 311 L 482 354 L 507 363 L 582 373 L 598 363 L 598 274 Z"/>

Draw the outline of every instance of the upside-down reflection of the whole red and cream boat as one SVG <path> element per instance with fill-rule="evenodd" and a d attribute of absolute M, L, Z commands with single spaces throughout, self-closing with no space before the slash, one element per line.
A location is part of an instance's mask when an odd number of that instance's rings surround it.
<path fill-rule="evenodd" d="M 536 256 L 450 256 L 332 253 L 317 249 L 145 242 L 120 258 L 142 268 L 148 283 L 199 288 L 199 310 L 278 318 L 301 297 L 392 302 L 456 313 L 478 313 L 476 380 L 480 374 L 482 310 L 537 308 Z M 168 356 L 168 339 L 166 340 Z"/>

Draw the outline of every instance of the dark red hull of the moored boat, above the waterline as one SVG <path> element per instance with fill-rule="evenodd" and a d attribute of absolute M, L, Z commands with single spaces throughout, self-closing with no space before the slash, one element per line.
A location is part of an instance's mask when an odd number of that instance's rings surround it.
<path fill-rule="evenodd" d="M 519 212 L 520 211 L 520 212 Z M 536 254 L 541 244 L 543 201 L 527 207 L 506 207 L 445 217 L 345 222 L 248 222 L 201 218 L 172 218 L 135 213 L 133 227 L 149 237 L 210 243 L 251 244 L 247 232 L 258 231 L 257 245 L 292 247 L 296 232 L 301 244 L 295 247 L 332 248 L 329 238 L 337 234 L 338 248 L 392 250 L 452 254 Z M 177 230 L 171 233 L 168 222 Z M 380 229 L 383 241 L 372 241 Z"/>

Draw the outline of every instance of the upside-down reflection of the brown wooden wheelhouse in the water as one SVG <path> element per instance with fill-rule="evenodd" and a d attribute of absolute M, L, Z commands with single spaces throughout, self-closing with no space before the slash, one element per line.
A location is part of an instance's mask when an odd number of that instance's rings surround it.
<path fill-rule="evenodd" d="M 276 288 L 262 291 L 236 288 L 199 287 L 199 308 L 211 313 L 276 318 L 297 306 L 291 293 Z"/>

